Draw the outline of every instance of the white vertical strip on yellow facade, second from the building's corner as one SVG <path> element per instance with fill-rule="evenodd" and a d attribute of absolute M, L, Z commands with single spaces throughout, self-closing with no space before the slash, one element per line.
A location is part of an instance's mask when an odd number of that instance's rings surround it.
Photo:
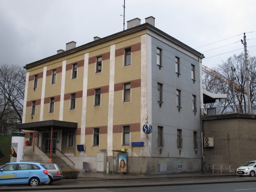
<path fill-rule="evenodd" d="M 108 142 L 107 142 L 108 152 L 107 152 L 107 156 L 112 156 L 112 150 L 113 150 L 115 56 L 116 56 L 116 45 L 111 45 L 110 46 L 110 66 L 109 66 L 109 91 L 108 91 Z"/>

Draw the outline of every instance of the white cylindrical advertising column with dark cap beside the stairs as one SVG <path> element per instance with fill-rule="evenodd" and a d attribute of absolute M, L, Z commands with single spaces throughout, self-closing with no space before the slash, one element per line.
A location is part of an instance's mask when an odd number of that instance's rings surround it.
<path fill-rule="evenodd" d="M 22 133 L 22 132 L 12 133 L 10 162 L 23 161 L 24 140 L 25 140 L 25 133 Z"/>

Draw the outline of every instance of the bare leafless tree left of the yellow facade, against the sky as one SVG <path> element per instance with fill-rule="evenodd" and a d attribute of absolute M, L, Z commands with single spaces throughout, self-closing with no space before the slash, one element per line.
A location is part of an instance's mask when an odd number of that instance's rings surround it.
<path fill-rule="evenodd" d="M 0 124 L 5 128 L 22 122 L 26 71 L 18 65 L 0 66 Z"/>

